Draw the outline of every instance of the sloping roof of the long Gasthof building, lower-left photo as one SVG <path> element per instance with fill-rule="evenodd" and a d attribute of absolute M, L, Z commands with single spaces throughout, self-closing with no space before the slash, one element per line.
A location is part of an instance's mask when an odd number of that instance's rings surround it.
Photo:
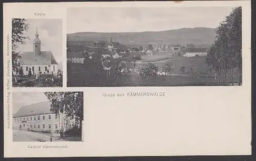
<path fill-rule="evenodd" d="M 50 101 L 25 105 L 19 109 L 19 111 L 16 113 L 16 115 L 13 118 L 40 115 L 40 114 L 49 114 L 49 113 L 52 113 L 50 109 L 51 109 Z"/>

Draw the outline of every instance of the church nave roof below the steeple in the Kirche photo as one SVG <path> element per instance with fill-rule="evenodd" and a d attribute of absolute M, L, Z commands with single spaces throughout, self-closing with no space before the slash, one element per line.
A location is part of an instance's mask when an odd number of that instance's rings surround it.
<path fill-rule="evenodd" d="M 58 64 L 55 60 L 52 51 L 40 51 L 39 55 L 34 55 L 33 51 L 22 53 L 20 65 L 25 64 Z"/>

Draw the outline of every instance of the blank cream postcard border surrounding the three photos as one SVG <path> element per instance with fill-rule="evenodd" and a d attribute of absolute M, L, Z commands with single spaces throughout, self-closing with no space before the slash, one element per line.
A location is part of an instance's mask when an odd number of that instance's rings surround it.
<path fill-rule="evenodd" d="M 67 88 L 66 11 L 70 7 L 235 7 L 242 6 L 243 85 L 237 87 Z M 11 18 L 61 18 L 63 22 L 63 88 L 4 89 L 5 157 L 166 156 L 251 154 L 251 7 L 250 1 L 5 3 L 4 75 Z M 35 12 L 46 13 L 44 17 Z M 11 35 L 10 35 L 11 36 Z M 11 40 L 10 40 L 11 42 Z M 11 51 L 11 48 L 10 48 Z M 11 66 L 11 64 L 10 64 Z M 4 85 L 7 79 L 4 77 Z M 5 86 L 4 86 L 5 87 Z M 62 143 L 13 142 L 7 128 L 7 93 L 83 91 L 84 141 L 65 149 L 29 149 L 28 145 Z M 162 98 L 105 98 L 102 93 L 165 92 Z M 200 100 L 200 102 L 198 101 Z M 154 116 L 154 117 L 153 117 Z M 12 126 L 12 119 L 10 120 Z"/>

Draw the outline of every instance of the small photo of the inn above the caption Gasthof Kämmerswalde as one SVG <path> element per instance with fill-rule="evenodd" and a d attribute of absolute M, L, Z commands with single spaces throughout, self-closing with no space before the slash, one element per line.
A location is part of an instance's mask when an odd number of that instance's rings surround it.
<path fill-rule="evenodd" d="M 83 92 L 13 92 L 13 142 L 83 141 Z"/>

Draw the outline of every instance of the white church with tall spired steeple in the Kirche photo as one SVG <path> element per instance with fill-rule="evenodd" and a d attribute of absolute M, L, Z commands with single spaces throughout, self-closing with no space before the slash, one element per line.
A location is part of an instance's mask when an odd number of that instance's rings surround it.
<path fill-rule="evenodd" d="M 41 51 L 41 41 L 38 36 L 39 35 L 36 29 L 35 39 L 33 42 L 33 51 L 25 51 L 22 53 L 20 65 L 23 68 L 24 75 L 27 75 L 29 70 L 31 70 L 32 74 L 57 74 L 57 61 L 55 60 L 52 51 Z"/>

